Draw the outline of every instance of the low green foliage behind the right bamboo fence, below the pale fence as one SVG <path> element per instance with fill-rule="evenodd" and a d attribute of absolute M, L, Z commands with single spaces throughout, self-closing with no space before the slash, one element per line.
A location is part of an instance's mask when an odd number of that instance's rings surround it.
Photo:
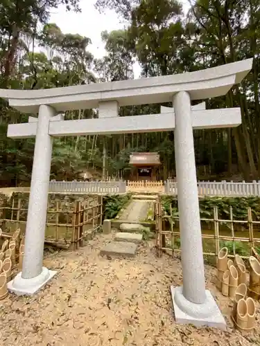
<path fill-rule="evenodd" d="M 168 215 L 171 206 L 173 216 L 177 216 L 177 197 L 162 197 L 162 203 Z M 230 219 L 230 207 L 233 219 L 248 219 L 249 207 L 254 219 L 260 219 L 260 197 L 203 197 L 199 199 L 199 204 L 201 219 L 213 219 L 214 207 L 218 207 L 218 219 Z"/>

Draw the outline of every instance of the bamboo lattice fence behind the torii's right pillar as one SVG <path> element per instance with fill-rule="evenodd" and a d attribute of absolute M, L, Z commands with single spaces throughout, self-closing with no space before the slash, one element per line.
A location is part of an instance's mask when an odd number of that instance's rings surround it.
<path fill-rule="evenodd" d="M 213 224 L 213 230 L 211 228 L 210 231 L 205 231 L 202 228 L 202 245 L 203 248 L 210 248 L 210 251 L 204 251 L 203 255 L 207 256 L 218 256 L 218 252 L 221 248 L 220 242 L 232 242 L 232 253 L 229 251 L 229 257 L 235 257 L 236 255 L 236 242 L 241 242 L 241 244 L 245 245 L 248 248 L 248 255 L 241 255 L 242 258 L 249 259 L 250 257 L 250 248 L 254 248 L 255 246 L 260 246 L 260 232 L 259 226 L 260 221 L 254 221 L 252 219 L 252 210 L 248 208 L 248 218 L 246 220 L 236 220 L 233 217 L 232 207 L 229 210 L 229 219 L 219 219 L 218 217 L 218 207 L 214 207 L 214 217 L 213 219 L 204 219 L 201 218 L 201 224 Z M 173 216 L 171 207 L 170 207 L 170 215 L 167 215 L 165 212 L 161 201 L 158 199 L 155 203 L 155 226 L 156 226 L 156 248 L 157 255 L 162 256 L 162 252 L 171 253 L 171 255 L 175 255 L 175 253 L 180 253 L 180 230 L 175 226 L 178 224 L 179 217 Z M 243 236 L 236 236 L 236 228 L 241 227 L 243 225 L 244 230 L 239 234 L 243 233 Z M 225 226 L 225 232 L 220 231 L 220 226 Z M 223 233 L 230 233 L 230 235 L 226 235 Z M 192 230 L 191 230 L 192 232 Z M 248 233 L 248 237 L 246 236 Z M 245 236 L 244 236 L 245 235 Z M 211 244 L 211 246 L 207 246 L 207 244 Z"/>

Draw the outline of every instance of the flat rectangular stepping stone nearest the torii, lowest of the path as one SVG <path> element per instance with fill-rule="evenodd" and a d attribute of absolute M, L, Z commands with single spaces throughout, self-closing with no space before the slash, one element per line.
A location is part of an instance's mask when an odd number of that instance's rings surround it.
<path fill-rule="evenodd" d="M 102 255 L 118 257 L 135 257 L 137 244 L 129 242 L 110 242 L 101 250 Z"/>

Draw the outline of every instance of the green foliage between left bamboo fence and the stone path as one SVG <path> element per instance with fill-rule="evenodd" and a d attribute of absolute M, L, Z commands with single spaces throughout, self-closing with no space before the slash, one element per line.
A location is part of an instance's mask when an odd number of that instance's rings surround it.
<path fill-rule="evenodd" d="M 123 208 L 123 206 L 130 201 L 131 197 L 132 194 L 116 194 L 114 196 L 106 196 L 103 199 L 104 218 L 114 219 L 121 208 Z"/>

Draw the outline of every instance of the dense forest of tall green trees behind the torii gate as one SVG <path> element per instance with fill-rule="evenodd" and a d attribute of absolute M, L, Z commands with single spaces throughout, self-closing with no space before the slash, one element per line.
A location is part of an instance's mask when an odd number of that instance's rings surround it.
<path fill-rule="evenodd" d="M 80 11 L 79 0 L 2 0 L 0 3 L 0 88 L 44 89 L 126 80 L 133 65 L 141 77 L 206 69 L 253 57 L 252 71 L 207 109 L 241 107 L 243 124 L 234 129 L 194 131 L 200 179 L 260 178 L 260 5 L 259 0 L 190 0 L 184 15 L 177 0 L 98 0 L 115 10 L 125 30 L 103 32 L 107 54 L 89 53 L 89 37 L 64 34 L 49 23 L 53 8 Z M 40 52 L 40 53 L 39 53 Z M 164 104 L 170 106 L 171 104 Z M 121 107 L 120 116 L 159 113 L 160 104 Z M 27 122 L 0 99 L 1 185 L 28 185 L 34 140 L 6 137 L 8 123 Z M 97 116 L 96 109 L 68 111 L 66 119 Z M 159 152 L 162 179 L 174 176 L 173 132 L 80 136 L 55 139 L 51 179 L 76 179 L 80 172 L 128 176 L 130 152 Z M 105 154 L 105 156 L 104 156 Z M 103 160 L 103 158 L 105 158 Z"/>

